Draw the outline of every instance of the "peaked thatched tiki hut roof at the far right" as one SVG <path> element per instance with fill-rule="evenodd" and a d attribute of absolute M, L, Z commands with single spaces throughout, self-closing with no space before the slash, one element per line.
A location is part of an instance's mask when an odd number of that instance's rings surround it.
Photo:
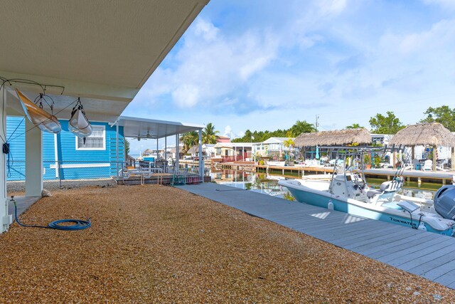
<path fill-rule="evenodd" d="M 389 145 L 455 147 L 455 135 L 439 122 L 419 123 L 398 131 Z"/>

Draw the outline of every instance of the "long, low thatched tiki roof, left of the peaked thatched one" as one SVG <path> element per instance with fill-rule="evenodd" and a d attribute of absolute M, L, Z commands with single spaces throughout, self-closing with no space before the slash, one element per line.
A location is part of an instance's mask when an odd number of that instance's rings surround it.
<path fill-rule="evenodd" d="M 371 135 L 363 127 L 358 129 L 302 133 L 294 140 L 297 147 L 338 146 L 357 142 L 359 145 L 371 143 Z"/>

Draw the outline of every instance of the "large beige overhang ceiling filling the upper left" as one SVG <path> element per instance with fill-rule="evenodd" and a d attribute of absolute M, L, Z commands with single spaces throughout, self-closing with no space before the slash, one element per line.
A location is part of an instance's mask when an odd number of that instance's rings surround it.
<path fill-rule="evenodd" d="M 47 85 L 54 112 L 80 97 L 89 120 L 113 121 L 208 1 L 2 1 L 0 76 Z M 14 86 L 31 100 L 42 93 Z M 22 115 L 14 90 L 7 100 Z"/>

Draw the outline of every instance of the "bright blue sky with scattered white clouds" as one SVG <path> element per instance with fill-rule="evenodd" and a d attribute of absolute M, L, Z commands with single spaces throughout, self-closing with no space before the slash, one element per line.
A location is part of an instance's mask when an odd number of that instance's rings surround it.
<path fill-rule="evenodd" d="M 123 115 L 235 138 L 316 115 L 319 130 L 387 111 L 413 124 L 454 96 L 455 0 L 210 0 Z"/>

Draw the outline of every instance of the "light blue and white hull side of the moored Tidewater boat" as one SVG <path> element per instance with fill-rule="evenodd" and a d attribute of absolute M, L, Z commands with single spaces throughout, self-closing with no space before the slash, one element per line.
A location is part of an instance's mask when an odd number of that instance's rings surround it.
<path fill-rule="evenodd" d="M 387 210 L 388 208 L 380 208 L 362 202 L 355 203 L 353 199 L 335 196 L 329 192 L 314 190 L 304 186 L 293 187 L 292 184 L 289 184 L 286 181 L 279 182 L 279 184 L 283 187 L 287 187 L 292 196 L 294 196 L 294 198 L 301 203 L 319 206 L 321 208 L 328 208 L 328 203 L 331 202 L 333 204 L 333 209 L 336 211 L 362 216 L 368 219 L 375 219 L 413 228 L 417 228 L 419 223 L 418 217 L 417 219 L 413 218 L 411 220 L 409 214 L 401 210 Z M 451 226 L 447 226 L 446 228 L 444 227 L 444 229 L 437 229 L 424 220 L 422 220 L 422 222 L 424 222 L 424 225 L 429 232 L 443 234 L 446 236 L 452 236 L 454 234 L 453 227 Z"/>

